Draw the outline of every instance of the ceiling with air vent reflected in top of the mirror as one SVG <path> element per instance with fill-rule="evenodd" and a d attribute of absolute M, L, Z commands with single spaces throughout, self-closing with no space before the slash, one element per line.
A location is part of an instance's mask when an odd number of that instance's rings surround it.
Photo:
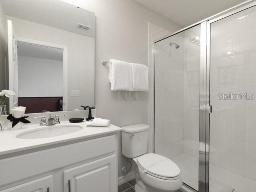
<path fill-rule="evenodd" d="M 62 0 L 0 0 L 0 3 L 8 16 L 85 36 L 95 36 L 94 13 Z M 92 28 L 76 28 L 78 23 Z"/>

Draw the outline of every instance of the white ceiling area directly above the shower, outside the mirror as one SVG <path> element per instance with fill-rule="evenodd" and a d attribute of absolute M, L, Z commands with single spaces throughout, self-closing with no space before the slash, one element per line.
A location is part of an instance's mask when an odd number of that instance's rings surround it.
<path fill-rule="evenodd" d="M 189 26 L 245 0 L 135 0 L 181 26 Z"/>

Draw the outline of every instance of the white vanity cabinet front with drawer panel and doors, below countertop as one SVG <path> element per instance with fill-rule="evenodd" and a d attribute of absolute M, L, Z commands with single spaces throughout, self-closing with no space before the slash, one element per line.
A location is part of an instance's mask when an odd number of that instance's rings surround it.
<path fill-rule="evenodd" d="M 0 192 L 117 192 L 117 133 L 0 160 Z"/>

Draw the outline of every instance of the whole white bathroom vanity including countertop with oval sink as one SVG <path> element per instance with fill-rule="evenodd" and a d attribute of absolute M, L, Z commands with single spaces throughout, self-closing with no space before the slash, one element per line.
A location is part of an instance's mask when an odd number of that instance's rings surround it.
<path fill-rule="evenodd" d="M 68 126 L 72 129 L 74 124 L 2 131 L 0 192 L 117 192 L 117 132 L 121 128 L 112 124 L 87 127 L 82 122 L 75 124 L 80 128 L 76 132 L 49 135 Z M 38 131 L 41 137 L 35 138 Z"/>

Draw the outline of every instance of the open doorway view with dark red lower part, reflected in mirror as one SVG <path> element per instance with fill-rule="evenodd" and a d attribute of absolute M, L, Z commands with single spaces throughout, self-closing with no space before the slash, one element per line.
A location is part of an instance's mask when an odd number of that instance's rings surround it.
<path fill-rule="evenodd" d="M 27 113 L 62 111 L 63 64 L 62 49 L 18 41 L 18 105 Z"/>

